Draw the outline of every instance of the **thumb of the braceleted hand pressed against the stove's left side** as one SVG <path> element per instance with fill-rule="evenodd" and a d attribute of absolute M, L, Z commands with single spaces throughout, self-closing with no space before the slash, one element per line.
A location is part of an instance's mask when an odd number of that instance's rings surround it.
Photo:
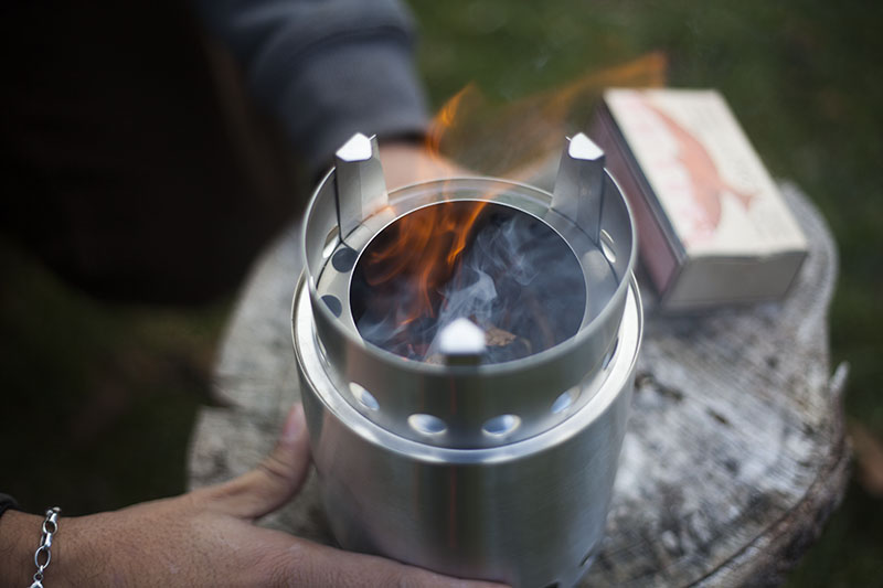
<path fill-rule="evenodd" d="M 294 496 L 309 470 L 304 406 L 288 413 L 276 447 L 254 470 L 209 490 L 209 505 L 241 518 L 259 518 Z"/>

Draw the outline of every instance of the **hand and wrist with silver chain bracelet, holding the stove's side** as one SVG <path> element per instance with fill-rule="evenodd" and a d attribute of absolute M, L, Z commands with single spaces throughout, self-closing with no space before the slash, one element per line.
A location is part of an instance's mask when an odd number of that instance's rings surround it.
<path fill-rule="evenodd" d="M 256 526 L 256 518 L 297 493 L 308 466 L 304 409 L 297 405 L 273 452 L 235 480 L 121 511 L 61 518 L 47 586 L 494 586 Z M 12 511 L 3 515 L 0 552 L 14 565 L 7 568 L 4 562 L 0 586 L 20 586 L 30 577 L 22 575 L 26 571 L 8 577 L 11 570 L 30 568 L 33 574 L 40 521 Z M 17 542 L 18 536 L 22 538 Z M 4 537 L 14 544 L 8 552 L 2 549 Z M 21 547 L 15 546 L 19 543 Z M 28 550 L 30 543 L 34 545 Z"/>

